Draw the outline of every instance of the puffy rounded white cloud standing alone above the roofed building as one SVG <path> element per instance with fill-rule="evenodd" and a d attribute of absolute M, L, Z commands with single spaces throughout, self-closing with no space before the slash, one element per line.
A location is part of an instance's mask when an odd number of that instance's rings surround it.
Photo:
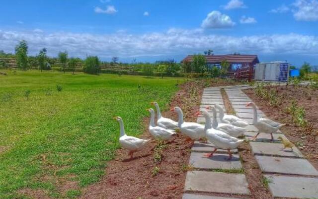
<path fill-rule="evenodd" d="M 210 12 L 207 17 L 202 21 L 202 28 L 227 28 L 234 26 L 235 23 L 231 17 L 222 14 L 220 11 L 214 10 Z"/>

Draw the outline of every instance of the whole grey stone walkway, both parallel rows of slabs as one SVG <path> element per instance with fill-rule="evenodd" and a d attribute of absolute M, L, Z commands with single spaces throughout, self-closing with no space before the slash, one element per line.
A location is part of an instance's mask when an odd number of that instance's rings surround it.
<path fill-rule="evenodd" d="M 224 110 L 224 102 L 220 89 L 224 88 L 238 117 L 248 121 L 251 125 L 246 127 L 247 138 L 256 135 L 257 128 L 252 125 L 253 110 L 245 104 L 251 101 L 242 89 L 251 88 L 247 85 L 207 88 L 203 92 L 200 109 L 208 105 L 220 104 Z M 257 108 L 259 116 L 265 114 Z M 218 120 L 220 120 L 218 118 Z M 203 117 L 198 117 L 198 123 L 204 123 Z M 282 132 L 274 133 L 274 141 L 270 142 L 270 135 L 260 133 L 255 141 L 250 142 L 255 159 L 269 179 L 269 189 L 274 197 L 288 198 L 318 198 L 318 171 L 304 158 L 302 153 L 294 147 L 281 150 L 283 145 L 277 139 Z M 196 141 L 192 147 L 189 164 L 194 171 L 188 171 L 182 199 L 236 199 L 235 196 L 248 196 L 248 183 L 241 172 L 242 165 L 238 151 L 233 150 L 231 161 L 226 161 L 225 150 L 217 151 L 212 158 L 203 158 L 204 153 L 213 150 L 212 143 Z M 229 170 L 233 170 L 229 173 Z M 201 193 L 201 194 L 200 194 Z M 229 194 L 231 198 L 203 196 L 203 193 Z M 239 198 L 239 197 L 238 197 Z"/>

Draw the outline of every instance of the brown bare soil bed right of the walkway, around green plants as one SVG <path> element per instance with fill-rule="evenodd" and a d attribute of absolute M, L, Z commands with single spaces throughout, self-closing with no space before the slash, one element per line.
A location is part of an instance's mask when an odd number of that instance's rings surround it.
<path fill-rule="evenodd" d="M 267 87 L 267 91 L 273 90 L 280 99 L 277 107 L 271 107 L 268 100 L 263 100 L 255 94 L 254 89 L 244 92 L 262 108 L 262 111 L 271 119 L 281 123 L 287 123 L 281 131 L 286 137 L 296 144 L 307 159 L 318 169 L 318 90 L 308 87 L 279 86 Z M 286 108 L 295 100 L 299 107 L 305 109 L 307 127 L 297 125 L 292 115 L 286 112 Z"/>

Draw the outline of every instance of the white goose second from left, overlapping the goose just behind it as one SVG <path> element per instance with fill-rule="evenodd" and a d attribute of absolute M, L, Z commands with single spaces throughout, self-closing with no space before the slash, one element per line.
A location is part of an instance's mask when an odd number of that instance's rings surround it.
<path fill-rule="evenodd" d="M 152 108 L 147 109 L 150 112 L 149 132 L 152 136 L 162 140 L 169 140 L 176 132 L 170 129 L 165 129 L 155 124 L 155 110 Z"/>

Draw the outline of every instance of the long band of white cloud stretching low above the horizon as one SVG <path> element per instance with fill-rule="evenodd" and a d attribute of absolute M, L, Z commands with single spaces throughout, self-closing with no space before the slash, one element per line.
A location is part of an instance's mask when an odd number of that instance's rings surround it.
<path fill-rule="evenodd" d="M 202 29 L 176 29 L 165 32 L 129 34 L 88 34 L 72 32 L 48 33 L 33 31 L 0 30 L 0 49 L 14 52 L 20 40 L 29 44 L 29 55 L 36 55 L 40 48 L 46 47 L 49 56 L 67 50 L 70 56 L 84 58 L 97 55 L 102 59 L 120 56 L 154 57 L 203 52 L 213 46 L 218 53 L 243 52 L 257 54 L 318 55 L 318 36 L 303 34 L 273 34 L 254 36 L 227 36 L 206 34 Z M 287 48 L 286 48 L 287 47 Z M 129 50 L 127 50 L 129 49 Z"/>

